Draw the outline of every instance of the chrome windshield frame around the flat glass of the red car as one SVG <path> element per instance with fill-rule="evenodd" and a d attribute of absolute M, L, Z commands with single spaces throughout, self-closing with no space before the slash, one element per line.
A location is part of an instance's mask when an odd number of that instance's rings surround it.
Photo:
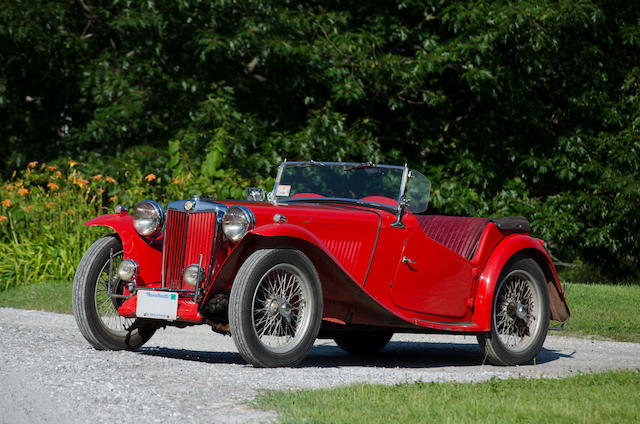
<path fill-rule="evenodd" d="M 342 197 L 301 197 L 301 198 L 295 198 L 295 199 L 287 197 L 284 199 L 279 199 L 276 196 L 278 186 L 280 185 L 280 180 L 282 178 L 282 174 L 285 168 L 302 168 L 302 167 L 313 167 L 313 166 L 320 166 L 320 167 L 332 166 L 332 167 L 344 167 L 344 168 L 351 168 L 351 169 L 360 169 L 360 168 L 370 167 L 370 168 L 383 168 L 383 169 L 393 169 L 397 171 L 402 171 L 400 186 L 398 187 L 398 195 L 395 199 L 393 199 L 397 202 L 397 206 L 392 206 L 389 204 L 373 202 L 373 201 L 359 200 L 359 199 L 353 199 L 353 198 L 342 198 Z M 416 172 L 416 171 L 409 169 L 409 167 L 406 164 L 404 166 L 398 166 L 398 165 L 374 164 L 371 162 L 364 162 L 364 163 L 318 162 L 313 160 L 287 162 L 287 160 L 285 159 L 278 167 L 278 174 L 276 176 L 276 179 L 273 185 L 273 190 L 268 194 L 268 199 L 274 205 L 277 205 L 278 203 L 285 203 L 285 204 L 286 203 L 342 203 L 342 204 L 346 203 L 346 204 L 352 204 L 357 206 L 374 207 L 377 209 L 386 210 L 390 213 L 396 214 L 396 216 L 398 217 L 401 217 L 402 214 L 404 213 L 405 207 L 408 205 L 408 201 L 406 199 L 407 185 L 408 185 L 408 180 L 412 176 L 412 172 Z"/>

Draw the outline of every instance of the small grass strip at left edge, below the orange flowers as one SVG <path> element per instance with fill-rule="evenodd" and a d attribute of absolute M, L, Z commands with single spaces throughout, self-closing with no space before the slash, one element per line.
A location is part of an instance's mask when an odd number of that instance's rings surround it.
<path fill-rule="evenodd" d="M 0 307 L 72 313 L 71 282 L 45 281 L 0 291 Z"/>

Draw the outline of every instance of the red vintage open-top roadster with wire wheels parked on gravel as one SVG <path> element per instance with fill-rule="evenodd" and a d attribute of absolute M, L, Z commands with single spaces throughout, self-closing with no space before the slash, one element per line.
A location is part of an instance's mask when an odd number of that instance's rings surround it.
<path fill-rule="evenodd" d="M 543 241 L 522 217 L 425 215 L 405 166 L 284 162 L 250 201 L 138 203 L 87 225 L 73 310 L 96 349 L 136 349 L 167 325 L 231 334 L 258 367 L 294 366 L 316 338 L 375 353 L 393 333 L 475 334 L 486 360 L 530 362 L 569 318 Z"/>

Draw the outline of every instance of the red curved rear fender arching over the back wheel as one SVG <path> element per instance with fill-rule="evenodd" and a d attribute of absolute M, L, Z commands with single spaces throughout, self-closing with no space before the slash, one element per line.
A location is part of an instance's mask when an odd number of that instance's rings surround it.
<path fill-rule="evenodd" d="M 529 256 L 537 262 L 547 279 L 551 319 L 559 322 L 567 321 L 570 316 L 569 307 L 556 269 L 549 253 L 542 246 L 542 241 L 523 234 L 513 234 L 505 237 L 495 247 L 482 270 L 473 304 L 473 322 L 484 331 L 491 330 L 493 294 L 502 269 L 515 254 Z"/>

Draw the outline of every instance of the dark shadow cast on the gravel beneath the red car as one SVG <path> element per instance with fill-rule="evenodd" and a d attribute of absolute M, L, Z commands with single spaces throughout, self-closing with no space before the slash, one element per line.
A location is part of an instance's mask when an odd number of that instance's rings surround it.
<path fill-rule="evenodd" d="M 209 364 L 245 365 L 236 352 L 215 352 L 162 347 L 142 347 L 138 353 L 185 361 Z M 544 364 L 562 357 L 571 357 L 553 349 L 542 348 L 536 364 Z M 483 363 L 483 355 L 476 344 L 391 342 L 374 355 L 350 355 L 334 345 L 315 345 L 300 367 L 379 367 L 379 368 L 440 368 L 477 367 Z"/>

